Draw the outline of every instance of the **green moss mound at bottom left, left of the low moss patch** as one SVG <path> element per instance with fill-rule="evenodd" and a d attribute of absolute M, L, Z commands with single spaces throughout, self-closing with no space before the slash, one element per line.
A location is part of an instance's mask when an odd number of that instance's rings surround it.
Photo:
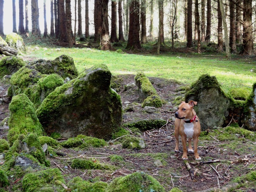
<path fill-rule="evenodd" d="M 61 172 L 57 168 L 32 172 L 32 173 L 26 174 L 23 177 L 22 188 L 25 192 L 39 191 L 40 188 L 50 187 L 54 185 L 56 180 L 59 180 L 65 183 Z M 55 188 L 58 188 L 58 187 L 55 186 Z"/>

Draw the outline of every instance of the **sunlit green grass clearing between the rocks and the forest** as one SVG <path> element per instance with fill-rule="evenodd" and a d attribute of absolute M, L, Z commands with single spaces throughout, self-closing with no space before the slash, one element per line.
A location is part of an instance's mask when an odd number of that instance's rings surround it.
<path fill-rule="evenodd" d="M 33 48 L 34 46 L 31 46 Z M 96 49 L 87 51 L 86 48 L 56 48 L 43 50 L 28 50 L 27 55 L 43 59 L 55 59 L 66 54 L 75 61 L 78 72 L 90 68 L 95 64 L 106 64 L 113 75 L 136 74 L 143 71 L 146 76 L 176 79 L 182 83 L 192 83 L 205 73 L 214 75 L 225 91 L 231 88 L 248 87 L 256 81 L 256 73 L 250 72 L 255 64 L 251 60 L 236 59 L 226 60 L 224 55 L 138 55 L 104 52 Z M 177 58 L 180 56 L 181 58 Z"/>

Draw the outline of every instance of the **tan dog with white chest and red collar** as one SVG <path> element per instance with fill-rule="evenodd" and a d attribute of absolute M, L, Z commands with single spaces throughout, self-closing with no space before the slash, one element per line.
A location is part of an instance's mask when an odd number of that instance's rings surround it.
<path fill-rule="evenodd" d="M 196 111 L 194 110 L 194 106 L 197 105 L 196 101 L 189 101 L 188 103 L 182 101 L 180 106 L 178 107 L 178 111 L 175 112 L 175 138 L 176 138 L 176 146 L 174 151 L 179 151 L 179 135 L 181 136 L 182 146 L 183 146 L 183 155 L 182 159 L 188 159 L 187 156 L 187 138 L 188 138 L 188 152 L 193 152 L 191 146 L 191 140 L 193 138 L 194 142 L 194 154 L 196 160 L 201 160 L 197 152 L 197 143 L 198 137 L 201 132 L 201 126 L 198 116 L 196 115 Z"/>

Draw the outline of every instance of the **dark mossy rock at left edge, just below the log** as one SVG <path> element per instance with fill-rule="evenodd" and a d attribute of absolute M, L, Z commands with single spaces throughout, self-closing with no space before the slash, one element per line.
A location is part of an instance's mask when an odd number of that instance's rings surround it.
<path fill-rule="evenodd" d="M 8 56 L 0 60 L 0 78 L 5 75 L 12 75 L 25 66 L 25 62 L 17 57 Z"/>

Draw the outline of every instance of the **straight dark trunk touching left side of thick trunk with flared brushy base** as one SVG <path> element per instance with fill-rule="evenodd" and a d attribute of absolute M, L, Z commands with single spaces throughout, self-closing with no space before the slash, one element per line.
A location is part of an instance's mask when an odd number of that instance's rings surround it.
<path fill-rule="evenodd" d="M 94 41 L 100 42 L 100 34 L 102 28 L 102 10 L 100 0 L 94 0 Z"/>

